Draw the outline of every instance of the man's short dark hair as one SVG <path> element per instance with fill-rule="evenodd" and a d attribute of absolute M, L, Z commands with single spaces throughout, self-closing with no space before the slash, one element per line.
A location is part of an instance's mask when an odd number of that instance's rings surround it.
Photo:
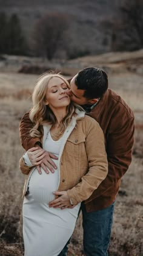
<path fill-rule="evenodd" d="M 84 68 L 79 71 L 75 84 L 79 90 L 85 90 L 85 98 L 101 98 L 108 88 L 108 77 L 102 69 Z"/>

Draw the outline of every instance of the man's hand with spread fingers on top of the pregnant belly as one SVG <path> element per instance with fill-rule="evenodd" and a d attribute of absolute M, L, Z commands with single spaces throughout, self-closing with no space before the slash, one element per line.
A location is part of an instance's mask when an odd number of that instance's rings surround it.
<path fill-rule="evenodd" d="M 58 157 L 47 151 L 44 151 L 43 155 L 44 157 L 42 158 L 41 163 L 37 166 L 39 174 L 42 174 L 41 167 L 47 174 L 49 173 L 49 170 L 52 173 L 55 172 L 53 168 L 57 169 L 57 166 L 53 162 L 52 158 L 58 160 Z"/>

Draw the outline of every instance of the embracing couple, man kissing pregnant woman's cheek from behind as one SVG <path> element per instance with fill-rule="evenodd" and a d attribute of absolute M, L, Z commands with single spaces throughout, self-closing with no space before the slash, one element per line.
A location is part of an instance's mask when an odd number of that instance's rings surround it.
<path fill-rule="evenodd" d="M 108 255 L 113 210 L 131 162 L 134 116 L 108 88 L 105 71 L 72 79 L 45 73 L 20 123 L 26 152 L 23 203 L 25 256 L 65 256 L 82 211 L 84 254 Z"/>

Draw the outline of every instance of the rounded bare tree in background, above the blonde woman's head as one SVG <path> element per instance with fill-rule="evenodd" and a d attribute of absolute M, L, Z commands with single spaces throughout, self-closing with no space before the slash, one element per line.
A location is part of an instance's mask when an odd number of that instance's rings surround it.
<path fill-rule="evenodd" d="M 49 13 L 35 25 L 33 33 L 34 47 L 38 55 L 52 60 L 59 49 L 67 44 L 69 19 L 61 13 Z"/>

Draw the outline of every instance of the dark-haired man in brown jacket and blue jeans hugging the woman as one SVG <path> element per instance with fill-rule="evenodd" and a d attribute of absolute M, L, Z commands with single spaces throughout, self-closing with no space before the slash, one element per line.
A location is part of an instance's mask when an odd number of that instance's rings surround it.
<path fill-rule="evenodd" d="M 87 256 L 105 256 L 108 255 L 114 204 L 121 178 L 131 163 L 134 115 L 125 101 L 108 89 L 107 74 L 101 69 L 82 69 L 70 80 L 70 89 L 71 100 L 82 105 L 88 115 L 98 121 L 105 135 L 108 175 L 81 206 L 84 253 Z M 30 129 L 32 122 L 26 113 L 20 124 L 22 146 L 26 150 L 33 146 L 41 146 L 39 138 L 30 137 Z M 94 138 L 93 143 L 96 146 Z M 52 154 L 47 153 L 42 162 L 41 166 L 45 171 L 46 166 L 50 171 L 53 171 L 53 167 L 56 168 L 51 157 L 54 158 Z M 40 172 L 39 167 L 38 169 Z M 55 199 L 55 202 L 57 200 Z M 60 255 L 66 253 L 63 251 Z"/>

